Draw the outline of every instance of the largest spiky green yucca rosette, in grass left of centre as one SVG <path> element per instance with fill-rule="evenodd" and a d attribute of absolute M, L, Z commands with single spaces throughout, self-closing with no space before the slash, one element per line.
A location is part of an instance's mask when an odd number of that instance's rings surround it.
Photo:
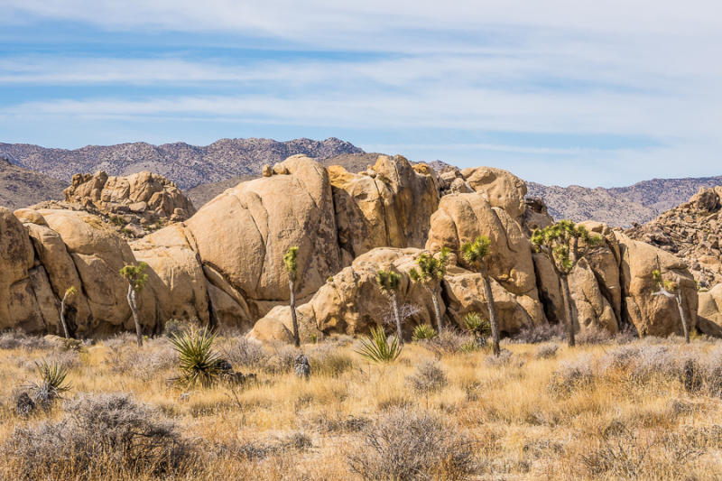
<path fill-rule="evenodd" d="M 180 375 L 173 379 L 176 385 L 184 389 L 195 385 L 208 387 L 218 380 L 221 357 L 213 350 L 215 341 L 216 336 L 204 328 L 173 335 L 171 344 L 180 362 Z"/>

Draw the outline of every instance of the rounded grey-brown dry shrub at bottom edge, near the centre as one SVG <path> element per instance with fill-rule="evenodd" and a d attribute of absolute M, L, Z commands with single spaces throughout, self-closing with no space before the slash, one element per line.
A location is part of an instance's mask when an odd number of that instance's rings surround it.
<path fill-rule="evenodd" d="M 475 473 L 471 444 L 443 417 L 412 409 L 381 414 L 360 433 L 351 470 L 374 481 L 467 479 Z"/>

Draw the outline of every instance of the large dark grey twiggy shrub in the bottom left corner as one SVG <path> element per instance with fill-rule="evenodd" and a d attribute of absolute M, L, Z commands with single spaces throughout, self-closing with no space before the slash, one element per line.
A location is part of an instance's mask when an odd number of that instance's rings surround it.
<path fill-rule="evenodd" d="M 127 394 L 84 395 L 63 409 L 62 421 L 16 428 L 5 443 L 19 479 L 82 479 L 108 467 L 162 474 L 194 458 L 173 423 Z"/>

